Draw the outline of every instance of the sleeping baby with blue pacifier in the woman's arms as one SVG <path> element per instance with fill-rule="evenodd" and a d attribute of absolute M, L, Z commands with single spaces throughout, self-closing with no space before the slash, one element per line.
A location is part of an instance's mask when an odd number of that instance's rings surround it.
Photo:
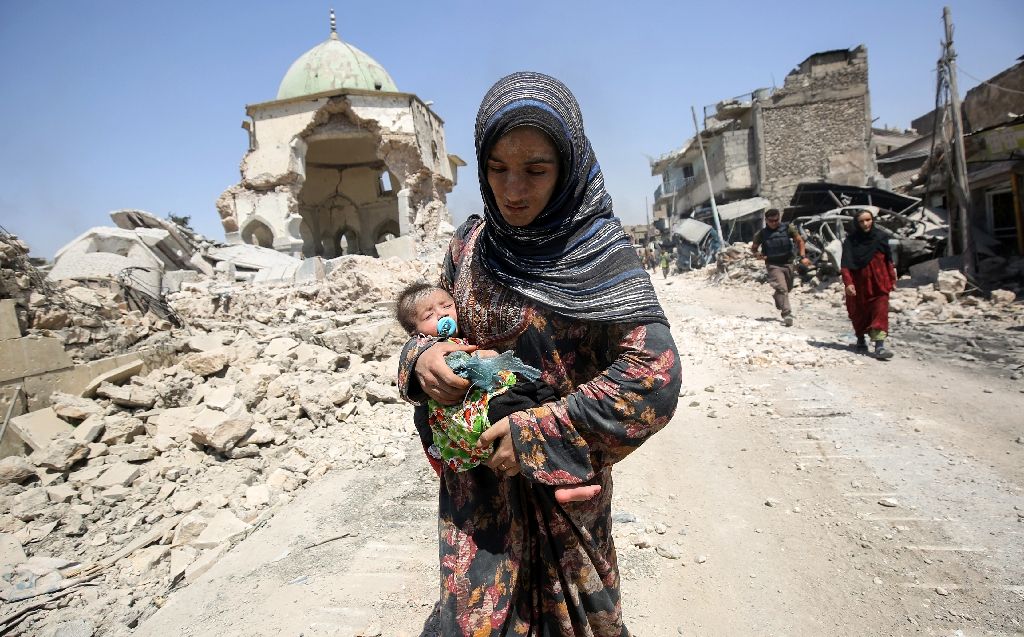
<path fill-rule="evenodd" d="M 398 295 L 395 310 L 398 323 L 410 335 L 446 338 L 459 344 L 469 344 L 465 339 L 457 338 L 459 328 L 455 299 L 443 288 L 424 283 L 413 284 Z M 475 353 L 482 358 L 498 355 L 490 350 Z M 529 382 L 519 382 L 516 374 L 506 369 L 495 374 L 497 380 L 493 387 L 496 388 L 473 386 L 461 405 L 443 406 L 433 399 L 427 401 L 429 431 L 424 431 L 420 423 L 417 423 L 417 430 L 427 459 L 438 473 L 440 463 L 453 471 L 467 471 L 478 466 L 492 454 L 489 449 L 476 447 L 480 434 L 487 427 L 515 412 L 558 398 L 554 387 L 537 380 L 539 370 L 509 354 L 503 354 L 503 357 L 510 358 L 509 367 Z M 452 365 L 451 358 L 449 362 Z M 562 503 L 579 502 L 590 500 L 600 491 L 599 485 L 556 486 L 555 499 Z"/>

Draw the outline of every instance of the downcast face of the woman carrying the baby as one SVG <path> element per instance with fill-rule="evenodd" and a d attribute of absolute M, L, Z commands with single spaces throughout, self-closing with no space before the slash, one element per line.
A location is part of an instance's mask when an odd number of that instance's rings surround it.
<path fill-rule="evenodd" d="M 529 225 L 551 200 L 558 184 L 558 151 L 531 126 L 502 135 L 487 158 L 487 184 L 509 225 Z"/>

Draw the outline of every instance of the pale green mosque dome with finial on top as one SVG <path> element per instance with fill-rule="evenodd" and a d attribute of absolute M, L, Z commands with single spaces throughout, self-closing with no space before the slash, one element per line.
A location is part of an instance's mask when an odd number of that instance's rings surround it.
<path fill-rule="evenodd" d="M 309 49 L 285 74 L 278 99 L 301 97 L 341 88 L 398 92 L 384 67 L 351 44 L 341 41 L 331 13 L 331 37 Z"/>

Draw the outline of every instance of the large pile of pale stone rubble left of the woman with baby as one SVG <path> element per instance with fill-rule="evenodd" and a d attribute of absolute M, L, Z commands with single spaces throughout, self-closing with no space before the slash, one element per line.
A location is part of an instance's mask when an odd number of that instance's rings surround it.
<path fill-rule="evenodd" d="M 391 307 L 436 265 L 335 261 L 319 283 L 184 283 L 174 365 L 11 420 L 34 451 L 0 460 L 0 633 L 126 634 L 304 483 L 404 460 Z"/>

